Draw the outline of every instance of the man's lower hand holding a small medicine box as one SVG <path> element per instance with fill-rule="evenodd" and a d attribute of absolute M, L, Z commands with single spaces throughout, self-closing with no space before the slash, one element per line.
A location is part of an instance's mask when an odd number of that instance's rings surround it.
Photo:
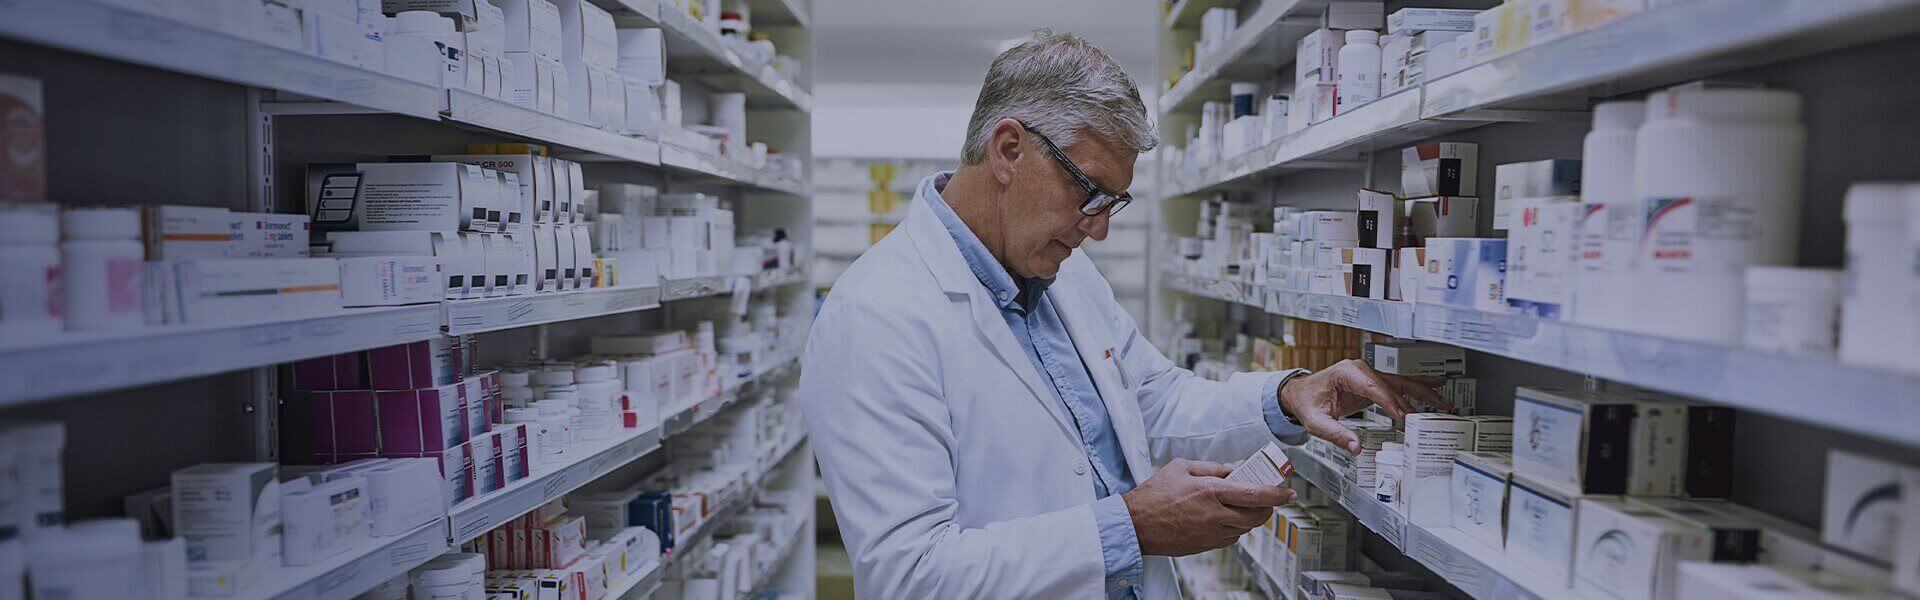
<path fill-rule="evenodd" d="M 1140 487 L 1119 494 L 1133 515 L 1140 554 L 1187 556 L 1225 548 L 1267 523 L 1294 490 L 1227 481 L 1221 463 L 1173 460 Z"/>

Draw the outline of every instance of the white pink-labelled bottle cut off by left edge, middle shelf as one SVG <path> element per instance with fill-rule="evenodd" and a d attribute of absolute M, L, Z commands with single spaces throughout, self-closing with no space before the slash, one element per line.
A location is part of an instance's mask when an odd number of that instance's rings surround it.
<path fill-rule="evenodd" d="M 0 202 L 0 337 L 60 333 L 60 208 Z"/>

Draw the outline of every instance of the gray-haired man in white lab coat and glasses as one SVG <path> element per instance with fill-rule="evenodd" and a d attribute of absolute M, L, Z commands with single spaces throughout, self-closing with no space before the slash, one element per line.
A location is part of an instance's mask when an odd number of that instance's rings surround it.
<path fill-rule="evenodd" d="M 989 67 L 958 171 L 833 285 L 799 398 L 858 596 L 1173 598 L 1169 556 L 1292 500 L 1217 462 L 1444 406 L 1359 362 L 1213 383 L 1154 350 L 1077 248 L 1156 142 L 1112 58 L 1037 31 Z"/>

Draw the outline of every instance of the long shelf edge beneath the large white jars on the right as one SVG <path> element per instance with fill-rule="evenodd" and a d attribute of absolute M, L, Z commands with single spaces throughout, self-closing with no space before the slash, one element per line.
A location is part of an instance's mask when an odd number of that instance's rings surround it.
<path fill-rule="evenodd" d="M 1438 304 L 1346 298 L 1167 271 L 1173 288 L 1269 313 L 1359 327 L 1594 375 L 1776 417 L 1920 446 L 1920 375 L 1797 358 L 1740 346 L 1674 340 L 1519 313 Z M 1807 402 L 1822 398 L 1822 402 Z"/>

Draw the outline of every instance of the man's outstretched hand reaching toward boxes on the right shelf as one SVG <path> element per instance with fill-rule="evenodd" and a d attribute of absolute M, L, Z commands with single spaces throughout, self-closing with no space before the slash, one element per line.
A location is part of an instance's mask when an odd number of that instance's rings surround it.
<path fill-rule="evenodd" d="M 1453 408 L 1434 392 L 1446 383 L 1442 377 L 1402 377 L 1380 373 L 1359 360 L 1342 360 L 1331 369 L 1294 377 L 1281 387 L 1281 408 L 1300 425 L 1319 438 L 1340 444 L 1346 452 L 1359 454 L 1359 435 L 1340 417 L 1352 415 L 1369 404 L 1379 404 L 1386 415 L 1405 419 L 1413 412 L 1407 396 L 1430 406 Z"/>

